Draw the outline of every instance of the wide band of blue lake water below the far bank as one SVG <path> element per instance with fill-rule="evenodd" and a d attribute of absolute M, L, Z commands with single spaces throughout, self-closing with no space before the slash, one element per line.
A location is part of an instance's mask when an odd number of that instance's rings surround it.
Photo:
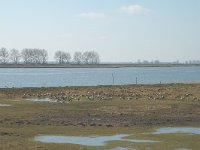
<path fill-rule="evenodd" d="M 200 67 L 0 68 L 0 87 L 122 85 L 136 78 L 138 84 L 200 82 Z"/>

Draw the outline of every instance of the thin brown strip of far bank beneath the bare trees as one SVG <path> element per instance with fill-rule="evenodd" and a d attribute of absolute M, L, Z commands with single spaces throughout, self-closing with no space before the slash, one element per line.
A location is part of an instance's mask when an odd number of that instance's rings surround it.
<path fill-rule="evenodd" d="M 0 64 L 0 68 L 200 67 L 200 64 Z"/>

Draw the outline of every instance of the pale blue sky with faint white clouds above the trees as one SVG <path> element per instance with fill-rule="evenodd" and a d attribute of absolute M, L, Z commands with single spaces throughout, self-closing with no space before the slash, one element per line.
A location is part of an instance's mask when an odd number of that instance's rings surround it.
<path fill-rule="evenodd" d="M 200 60 L 200 0 L 0 0 L 0 47 L 102 62 Z"/>

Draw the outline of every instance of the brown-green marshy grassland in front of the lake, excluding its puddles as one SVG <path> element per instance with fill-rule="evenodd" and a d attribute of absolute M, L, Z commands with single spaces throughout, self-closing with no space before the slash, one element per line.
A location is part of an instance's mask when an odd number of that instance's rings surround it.
<path fill-rule="evenodd" d="M 59 103 L 32 102 L 29 97 L 65 93 L 79 97 Z M 88 94 L 89 93 L 89 94 Z M 91 93 L 94 97 L 88 99 Z M 102 95 L 102 93 L 106 93 Z M 100 95 L 101 98 L 98 97 Z M 80 97 L 81 96 L 81 97 Z M 132 96 L 132 97 L 131 97 Z M 199 135 L 139 134 L 157 127 L 200 127 L 200 84 L 99 86 L 1 89 L 0 149 L 175 149 L 200 147 Z M 130 138 L 160 140 L 159 143 L 109 142 L 106 147 L 34 142 L 39 134 L 113 135 L 131 134 Z"/>

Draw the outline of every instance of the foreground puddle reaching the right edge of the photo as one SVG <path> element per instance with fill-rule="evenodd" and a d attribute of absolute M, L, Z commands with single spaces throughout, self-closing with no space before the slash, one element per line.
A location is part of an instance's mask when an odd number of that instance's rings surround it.
<path fill-rule="evenodd" d="M 186 133 L 186 134 L 200 134 L 200 128 L 160 128 L 157 129 L 156 132 L 153 132 L 153 134 L 169 134 L 169 133 Z"/>

